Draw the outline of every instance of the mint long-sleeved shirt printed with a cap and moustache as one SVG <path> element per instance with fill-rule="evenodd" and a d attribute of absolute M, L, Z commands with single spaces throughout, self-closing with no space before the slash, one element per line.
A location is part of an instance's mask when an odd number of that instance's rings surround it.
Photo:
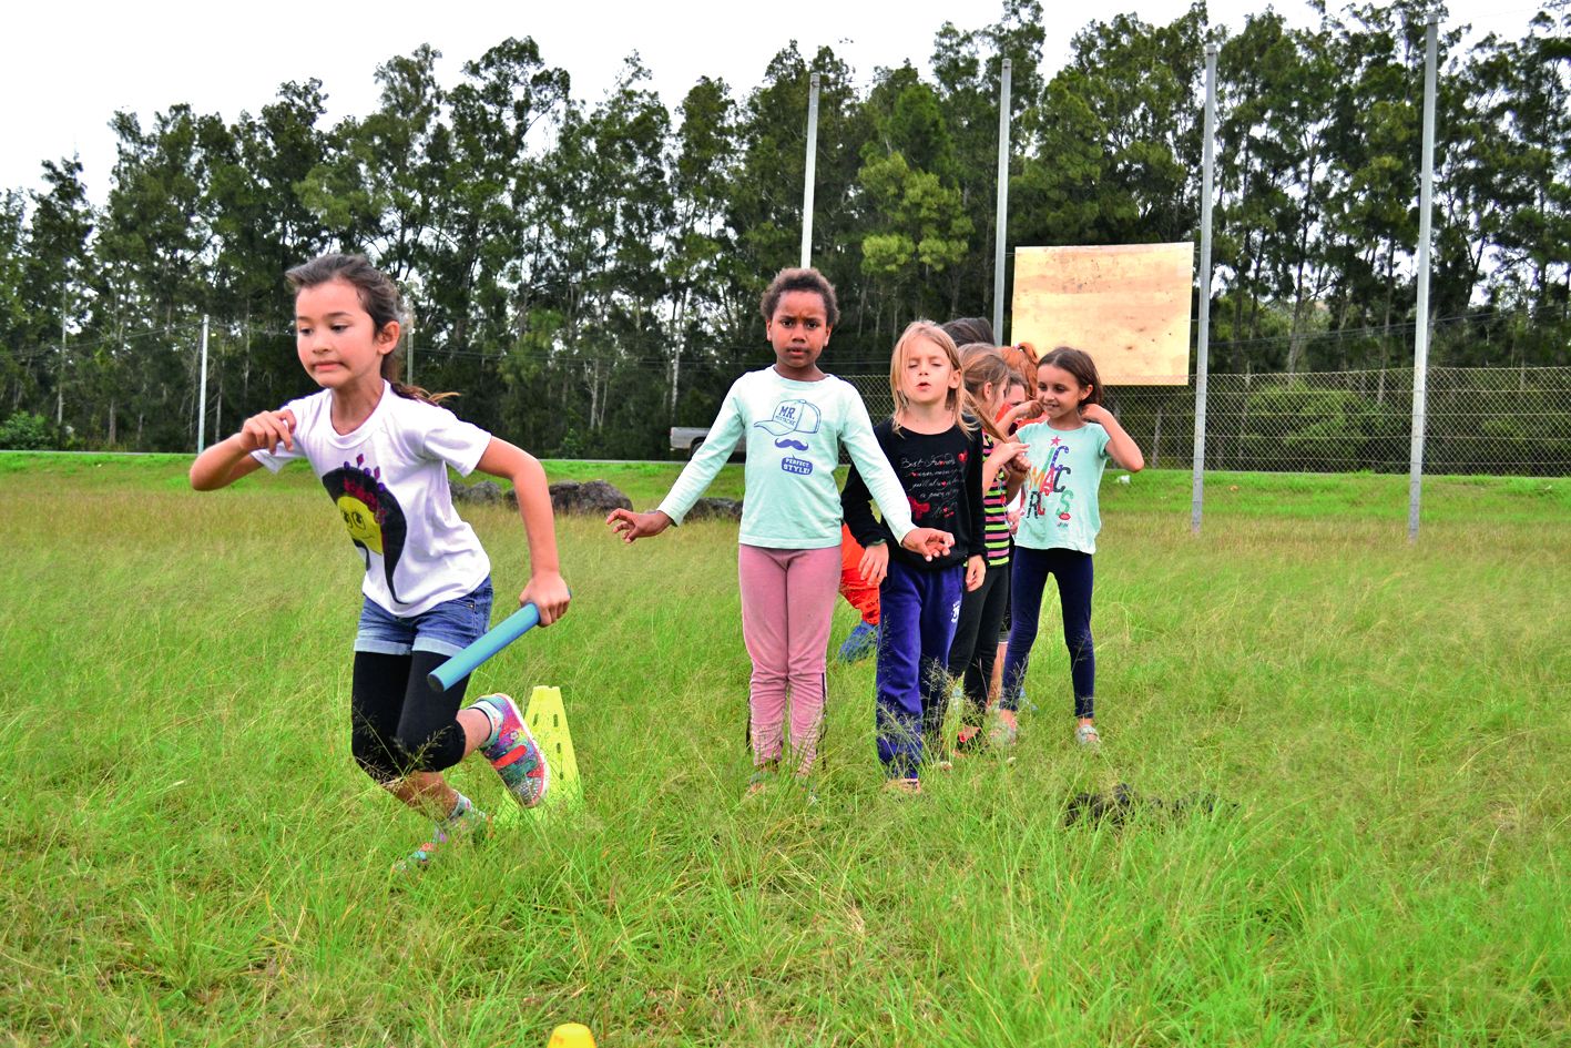
<path fill-rule="evenodd" d="M 834 376 L 796 382 L 775 368 L 749 371 L 732 383 L 704 446 L 671 486 L 660 512 L 682 523 L 743 438 L 743 545 L 822 550 L 840 544 L 840 492 L 834 481 L 840 445 L 867 481 L 895 540 L 911 529 L 905 490 L 873 437 L 856 387 Z"/>

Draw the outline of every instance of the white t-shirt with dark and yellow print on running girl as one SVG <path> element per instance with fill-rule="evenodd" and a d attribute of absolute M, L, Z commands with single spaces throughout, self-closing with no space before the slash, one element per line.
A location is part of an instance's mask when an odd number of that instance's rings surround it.
<path fill-rule="evenodd" d="M 452 509 L 448 467 L 468 476 L 490 434 L 388 383 L 371 418 L 338 434 L 331 398 L 322 390 L 289 401 L 294 451 L 251 456 L 273 473 L 292 459 L 311 464 L 364 556 L 361 591 L 391 614 L 412 617 L 471 592 L 490 575 L 490 558 Z"/>

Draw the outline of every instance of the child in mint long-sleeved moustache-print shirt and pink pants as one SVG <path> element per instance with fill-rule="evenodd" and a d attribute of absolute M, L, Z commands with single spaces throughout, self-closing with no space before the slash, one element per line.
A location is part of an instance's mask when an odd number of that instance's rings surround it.
<path fill-rule="evenodd" d="M 848 382 L 818 369 L 839 321 L 829 281 L 814 269 L 781 270 L 760 305 L 775 366 L 737 379 L 704 446 L 655 511 L 616 509 L 606 517 L 624 542 L 680 525 L 737 442 L 748 442 L 737 555 L 742 636 L 753 658 L 748 735 L 754 773 L 748 792 L 762 789 L 779 767 L 787 705 L 796 775 L 806 776 L 817 756 L 825 654 L 840 581 L 840 497 L 834 482 L 840 446 L 867 478 L 905 548 L 932 558 L 952 544 L 947 533 L 911 525 L 905 492 L 873 438 L 862 398 Z"/>

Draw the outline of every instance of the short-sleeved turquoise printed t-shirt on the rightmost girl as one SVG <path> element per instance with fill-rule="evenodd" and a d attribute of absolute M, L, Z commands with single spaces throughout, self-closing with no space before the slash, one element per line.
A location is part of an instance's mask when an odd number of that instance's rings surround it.
<path fill-rule="evenodd" d="M 1111 457 L 1108 431 L 1095 423 L 1053 429 L 1042 421 L 1021 426 L 1015 440 L 1026 445 L 1031 460 L 1015 545 L 1095 553 L 1101 531 L 1097 489 Z"/>

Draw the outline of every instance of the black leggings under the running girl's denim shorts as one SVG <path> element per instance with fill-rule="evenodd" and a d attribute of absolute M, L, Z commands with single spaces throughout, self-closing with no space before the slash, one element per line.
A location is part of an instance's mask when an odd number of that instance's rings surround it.
<path fill-rule="evenodd" d="M 463 759 L 459 707 L 465 677 L 437 694 L 426 676 L 448 661 L 437 652 L 355 652 L 349 748 L 366 775 L 394 782 L 412 771 L 441 771 Z"/>

